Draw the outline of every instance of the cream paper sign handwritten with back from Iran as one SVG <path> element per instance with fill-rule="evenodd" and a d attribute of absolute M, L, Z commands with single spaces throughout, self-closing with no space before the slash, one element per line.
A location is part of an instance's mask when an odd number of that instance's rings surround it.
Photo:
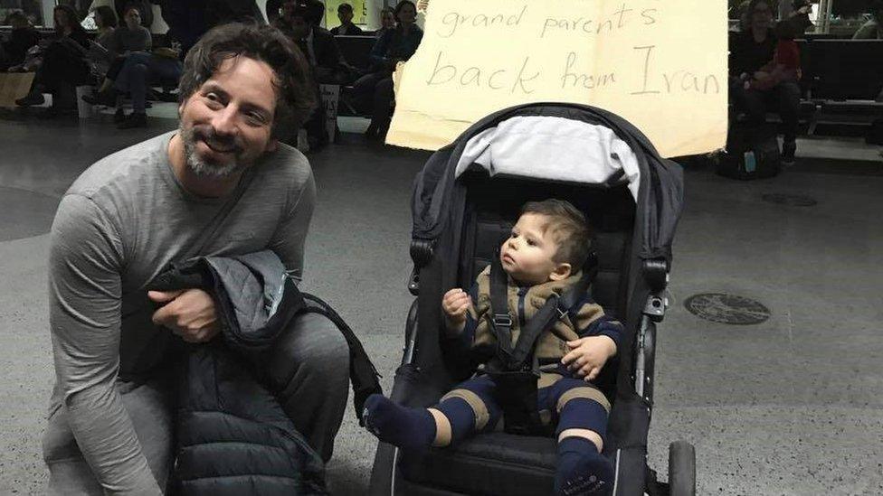
<path fill-rule="evenodd" d="M 725 0 L 432 0 L 387 143 L 435 150 L 501 108 L 610 110 L 664 156 L 726 142 Z"/>

